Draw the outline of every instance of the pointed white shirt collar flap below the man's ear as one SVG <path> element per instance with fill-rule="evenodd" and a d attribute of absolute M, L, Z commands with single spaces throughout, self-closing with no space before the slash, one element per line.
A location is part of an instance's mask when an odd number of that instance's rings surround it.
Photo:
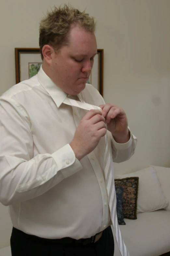
<path fill-rule="evenodd" d="M 67 97 L 67 94 L 62 91 L 52 80 L 50 77 L 40 67 L 40 70 L 37 74 L 38 81 L 44 87 L 44 89 L 50 94 L 51 98 L 54 100 L 55 104 L 59 108 L 63 103 L 64 99 Z"/>

